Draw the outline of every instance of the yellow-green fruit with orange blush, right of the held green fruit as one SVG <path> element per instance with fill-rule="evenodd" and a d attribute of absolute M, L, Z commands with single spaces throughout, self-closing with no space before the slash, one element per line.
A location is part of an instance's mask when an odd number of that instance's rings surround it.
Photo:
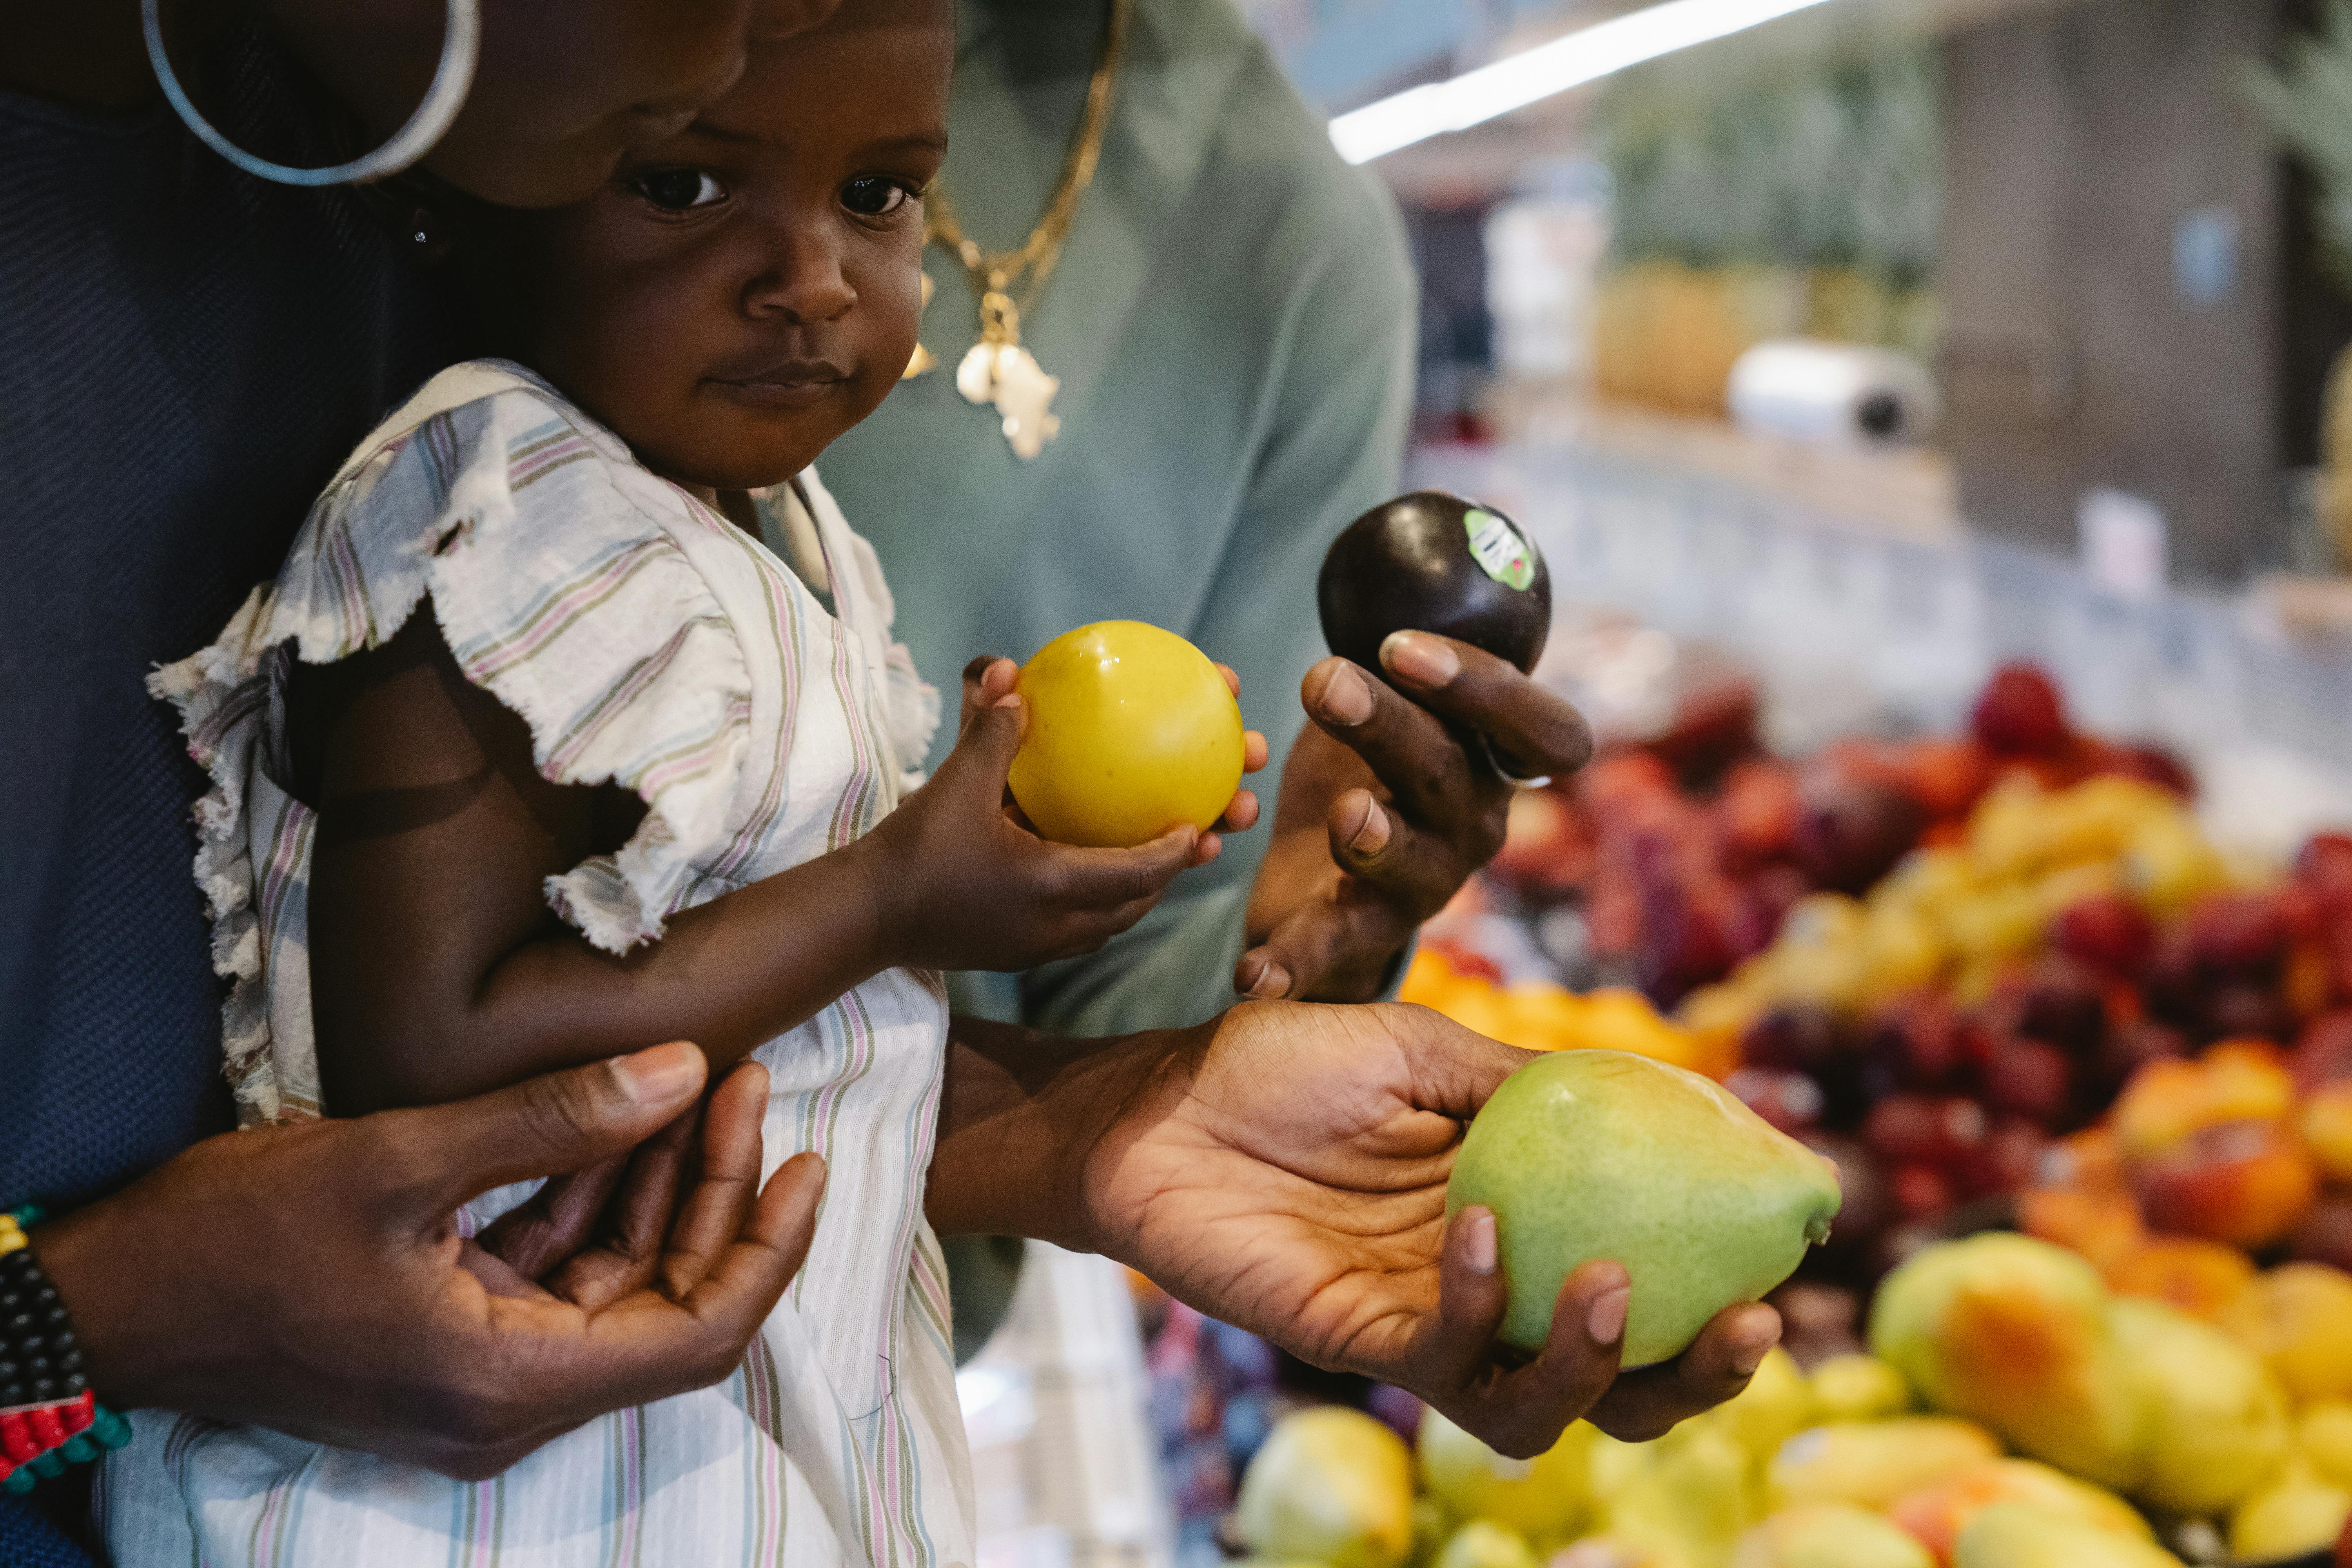
<path fill-rule="evenodd" d="M 2140 1483 L 2147 1401 L 2082 1255 L 1987 1232 L 1905 1258 L 1870 1305 L 1870 1349 L 1936 1410 L 2122 1493 Z"/>

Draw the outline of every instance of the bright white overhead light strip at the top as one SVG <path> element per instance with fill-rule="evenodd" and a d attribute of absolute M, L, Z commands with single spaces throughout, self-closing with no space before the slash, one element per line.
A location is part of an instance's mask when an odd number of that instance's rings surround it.
<path fill-rule="evenodd" d="M 1371 162 L 1416 141 L 1526 108 L 1555 92 L 1597 82 L 1625 66 L 1745 33 L 1813 5 L 1823 0 L 1665 0 L 1564 33 L 1449 82 L 1409 87 L 1392 99 L 1350 110 L 1331 122 L 1331 143 L 1348 162 Z"/>

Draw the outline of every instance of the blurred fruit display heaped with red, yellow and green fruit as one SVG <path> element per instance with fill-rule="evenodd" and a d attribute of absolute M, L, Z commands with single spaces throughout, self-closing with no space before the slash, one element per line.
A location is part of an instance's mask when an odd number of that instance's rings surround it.
<path fill-rule="evenodd" d="M 1846 1206 L 1752 1389 L 1653 1443 L 1505 1460 L 1192 1324 L 1181 1507 L 1223 1476 L 1228 1547 L 1343 1568 L 2331 1561 L 2352 656 L 1769 475 L 1562 444 L 1416 482 L 1541 543 L 1538 672 L 1609 745 L 1519 797 L 1406 999 L 1717 1077 Z"/>

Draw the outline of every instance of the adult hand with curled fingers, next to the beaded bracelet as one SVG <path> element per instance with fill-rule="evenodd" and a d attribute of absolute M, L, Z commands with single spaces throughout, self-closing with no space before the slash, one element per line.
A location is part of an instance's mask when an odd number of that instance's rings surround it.
<path fill-rule="evenodd" d="M 682 1159 L 703 1081 L 701 1053 L 670 1044 L 461 1105 L 223 1133 L 33 1246 L 99 1399 L 492 1476 L 593 1415 L 724 1378 L 807 1255 L 823 1161 L 760 1187 L 755 1065 Z M 517 1269 L 456 1234 L 496 1185 L 647 1143 L 593 1246 L 562 1222 L 517 1234 Z"/>

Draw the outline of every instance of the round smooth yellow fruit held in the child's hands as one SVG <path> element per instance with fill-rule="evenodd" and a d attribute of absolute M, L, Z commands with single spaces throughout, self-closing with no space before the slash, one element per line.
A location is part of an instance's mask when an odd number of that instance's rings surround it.
<path fill-rule="evenodd" d="M 1063 632 L 1021 665 L 1011 790 L 1058 844 L 1127 849 L 1207 830 L 1242 783 L 1242 708 L 1209 656 L 1143 621 Z"/>

